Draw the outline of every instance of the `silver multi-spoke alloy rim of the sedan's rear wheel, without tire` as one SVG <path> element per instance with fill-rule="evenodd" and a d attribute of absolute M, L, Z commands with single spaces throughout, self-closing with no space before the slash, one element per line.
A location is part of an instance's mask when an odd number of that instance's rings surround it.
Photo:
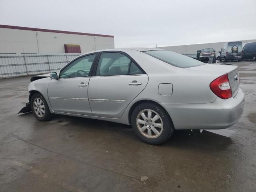
<path fill-rule="evenodd" d="M 157 138 L 162 134 L 163 121 L 160 115 L 151 109 L 139 112 L 136 118 L 137 128 L 147 138 Z"/>

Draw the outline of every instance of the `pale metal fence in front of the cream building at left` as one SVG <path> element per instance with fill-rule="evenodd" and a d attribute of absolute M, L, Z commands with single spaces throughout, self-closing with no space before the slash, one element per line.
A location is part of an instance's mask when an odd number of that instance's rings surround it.
<path fill-rule="evenodd" d="M 80 54 L 0 54 L 0 78 L 58 71 Z"/>

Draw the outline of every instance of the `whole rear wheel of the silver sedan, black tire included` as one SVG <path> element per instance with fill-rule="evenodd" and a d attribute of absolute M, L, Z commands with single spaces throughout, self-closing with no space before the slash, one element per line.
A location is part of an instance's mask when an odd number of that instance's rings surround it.
<path fill-rule="evenodd" d="M 148 117 L 148 111 L 151 112 L 151 118 Z M 158 104 L 151 102 L 144 102 L 134 108 L 131 123 L 137 136 L 144 142 L 152 145 L 166 142 L 175 130 L 167 112 Z"/>

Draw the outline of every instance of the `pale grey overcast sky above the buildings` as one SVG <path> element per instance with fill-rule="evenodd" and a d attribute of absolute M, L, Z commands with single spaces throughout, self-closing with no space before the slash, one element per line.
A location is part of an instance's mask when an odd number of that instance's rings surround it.
<path fill-rule="evenodd" d="M 256 0 L 0 0 L 0 24 L 114 35 L 115 48 L 256 39 Z"/>

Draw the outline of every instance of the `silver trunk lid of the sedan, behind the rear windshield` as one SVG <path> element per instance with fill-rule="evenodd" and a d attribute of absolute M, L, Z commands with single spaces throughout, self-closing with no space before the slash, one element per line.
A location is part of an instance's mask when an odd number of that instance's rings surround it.
<path fill-rule="evenodd" d="M 228 80 L 232 90 L 232 96 L 236 96 L 239 88 L 239 73 L 238 66 L 228 66 L 220 64 L 205 64 L 195 67 L 186 68 L 188 70 L 194 71 L 207 71 L 207 72 L 223 72 L 223 74 L 228 73 Z M 216 77 L 218 78 L 218 77 Z M 214 79 L 213 79 L 214 80 Z"/>

